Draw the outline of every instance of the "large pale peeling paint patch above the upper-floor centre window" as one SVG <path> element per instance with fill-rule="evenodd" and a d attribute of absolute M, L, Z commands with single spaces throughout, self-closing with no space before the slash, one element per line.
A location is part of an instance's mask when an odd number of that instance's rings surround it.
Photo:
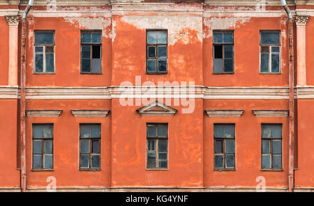
<path fill-rule="evenodd" d="M 179 40 L 188 44 L 188 30 L 197 31 L 197 40 L 202 42 L 202 17 L 124 16 L 121 20 L 140 29 L 167 29 L 169 45 Z"/>

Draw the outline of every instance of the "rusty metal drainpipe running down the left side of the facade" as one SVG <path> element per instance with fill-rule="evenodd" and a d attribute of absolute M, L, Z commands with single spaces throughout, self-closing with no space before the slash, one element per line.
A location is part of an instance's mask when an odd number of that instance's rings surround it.
<path fill-rule="evenodd" d="M 21 49 L 21 189 L 27 191 L 27 173 L 26 173 L 26 135 L 25 135 L 25 80 L 26 80 L 26 42 L 27 42 L 27 14 L 33 6 L 33 0 L 29 0 L 22 17 L 22 49 Z"/>

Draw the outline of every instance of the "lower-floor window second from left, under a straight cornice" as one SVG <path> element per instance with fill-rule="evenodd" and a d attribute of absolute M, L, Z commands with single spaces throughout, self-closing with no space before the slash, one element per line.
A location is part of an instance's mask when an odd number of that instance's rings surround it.
<path fill-rule="evenodd" d="M 80 169 L 100 168 L 100 124 L 80 124 Z"/>

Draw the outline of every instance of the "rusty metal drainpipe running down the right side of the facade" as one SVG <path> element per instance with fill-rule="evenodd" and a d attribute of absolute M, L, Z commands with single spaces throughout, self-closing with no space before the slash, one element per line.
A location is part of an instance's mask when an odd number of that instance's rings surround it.
<path fill-rule="evenodd" d="M 281 4 L 289 18 L 289 191 L 294 188 L 294 50 L 293 50 L 293 18 L 285 0 Z"/>

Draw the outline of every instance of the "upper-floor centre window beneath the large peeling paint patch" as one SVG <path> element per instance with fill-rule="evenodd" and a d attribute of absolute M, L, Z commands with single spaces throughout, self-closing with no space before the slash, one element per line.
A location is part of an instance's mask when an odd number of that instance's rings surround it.
<path fill-rule="evenodd" d="M 167 31 L 147 31 L 147 73 L 167 73 Z"/>

